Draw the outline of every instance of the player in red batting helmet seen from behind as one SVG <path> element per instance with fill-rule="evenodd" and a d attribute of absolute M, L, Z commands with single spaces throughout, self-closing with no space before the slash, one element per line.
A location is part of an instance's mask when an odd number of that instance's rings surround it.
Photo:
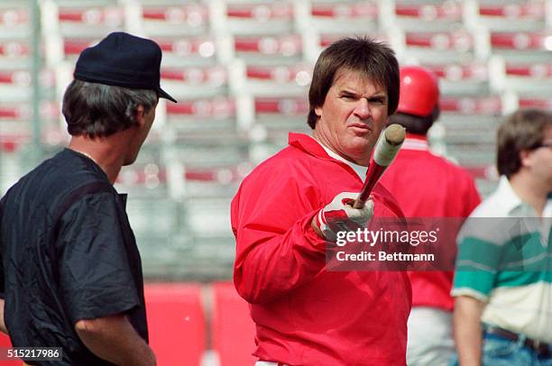
<path fill-rule="evenodd" d="M 399 106 L 390 123 L 406 127 L 407 138 L 382 184 L 407 217 L 465 218 L 481 201 L 468 172 L 428 150 L 427 133 L 438 118 L 438 102 L 435 74 L 418 66 L 400 69 Z M 407 360 L 411 366 L 446 365 L 453 355 L 452 270 L 409 272 L 412 312 Z"/>

